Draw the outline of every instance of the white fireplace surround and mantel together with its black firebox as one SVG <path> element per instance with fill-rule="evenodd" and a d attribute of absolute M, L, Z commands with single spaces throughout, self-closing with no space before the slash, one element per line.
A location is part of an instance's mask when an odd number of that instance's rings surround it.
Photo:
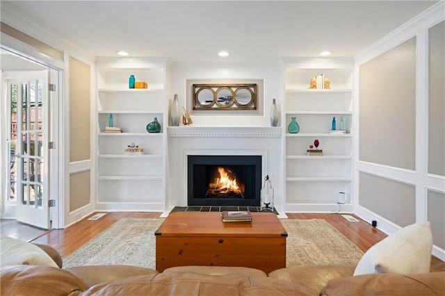
<path fill-rule="evenodd" d="M 267 174 L 275 177 L 275 207 L 280 208 L 281 133 L 271 127 L 169 127 L 167 208 L 259 206 Z M 189 180 L 193 167 L 195 181 Z M 220 188 L 220 174 L 236 175 L 242 190 Z"/>

